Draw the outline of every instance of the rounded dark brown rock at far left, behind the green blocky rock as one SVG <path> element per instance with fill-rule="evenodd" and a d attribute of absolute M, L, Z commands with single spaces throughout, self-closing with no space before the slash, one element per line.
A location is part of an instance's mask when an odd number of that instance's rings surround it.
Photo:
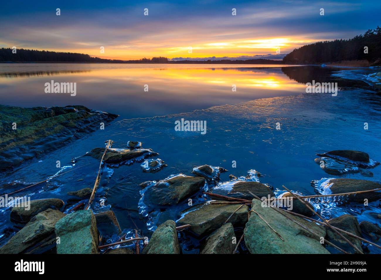
<path fill-rule="evenodd" d="M 25 207 L 13 207 L 11 211 L 11 221 L 26 223 L 35 215 L 47 209 L 61 209 L 64 202 L 58 198 L 37 199 L 30 201 L 30 209 Z"/>

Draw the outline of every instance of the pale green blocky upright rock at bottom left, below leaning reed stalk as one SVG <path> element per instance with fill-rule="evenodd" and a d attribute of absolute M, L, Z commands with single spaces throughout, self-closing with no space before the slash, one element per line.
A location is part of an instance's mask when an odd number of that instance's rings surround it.
<path fill-rule="evenodd" d="M 98 230 L 91 210 L 78 210 L 60 219 L 55 226 L 57 254 L 98 254 Z"/>

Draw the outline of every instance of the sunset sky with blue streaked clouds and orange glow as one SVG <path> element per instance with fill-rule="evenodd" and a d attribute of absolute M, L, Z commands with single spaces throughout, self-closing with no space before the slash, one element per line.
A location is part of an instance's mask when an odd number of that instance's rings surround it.
<path fill-rule="evenodd" d="M 363 34 L 381 25 L 380 14 L 379 0 L 4 1 L 0 47 L 107 59 L 282 59 L 309 43 Z"/>

